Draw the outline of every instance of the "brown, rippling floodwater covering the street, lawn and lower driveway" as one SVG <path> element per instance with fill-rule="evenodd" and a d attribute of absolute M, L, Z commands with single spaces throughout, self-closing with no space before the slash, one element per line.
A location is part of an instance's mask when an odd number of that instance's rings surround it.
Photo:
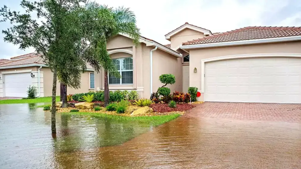
<path fill-rule="evenodd" d="M 195 112 L 194 112 L 195 113 Z M 158 127 L 0 105 L 0 168 L 301 168 L 299 123 L 183 115 Z"/>

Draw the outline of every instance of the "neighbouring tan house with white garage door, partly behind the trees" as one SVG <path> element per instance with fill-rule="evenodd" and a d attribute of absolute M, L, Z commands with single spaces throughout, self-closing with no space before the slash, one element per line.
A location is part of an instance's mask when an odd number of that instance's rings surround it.
<path fill-rule="evenodd" d="M 89 65 L 87 68 L 88 71 L 82 74 L 81 88 L 78 90 L 67 88 L 67 94 L 94 91 L 94 69 Z M 34 75 L 33 78 L 31 73 Z M 51 70 L 36 53 L 0 60 L 0 97 L 27 97 L 29 85 L 37 87 L 36 96 L 51 96 L 52 79 Z M 56 95 L 60 95 L 59 82 Z"/>

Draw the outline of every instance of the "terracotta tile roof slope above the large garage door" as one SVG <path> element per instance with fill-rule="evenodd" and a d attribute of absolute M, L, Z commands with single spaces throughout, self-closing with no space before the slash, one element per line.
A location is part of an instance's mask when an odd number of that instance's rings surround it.
<path fill-rule="evenodd" d="M 206 44 L 228 41 L 242 41 L 250 39 L 279 38 L 301 35 L 301 27 L 271 27 L 271 26 L 248 26 L 228 32 L 209 35 L 192 41 L 182 43 L 182 45 Z"/>

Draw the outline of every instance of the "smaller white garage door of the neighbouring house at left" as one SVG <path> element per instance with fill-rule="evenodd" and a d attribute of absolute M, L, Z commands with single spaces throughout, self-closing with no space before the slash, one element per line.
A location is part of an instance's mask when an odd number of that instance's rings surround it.
<path fill-rule="evenodd" d="M 32 85 L 30 73 L 13 73 L 4 75 L 5 97 L 27 97 L 26 91 Z"/>

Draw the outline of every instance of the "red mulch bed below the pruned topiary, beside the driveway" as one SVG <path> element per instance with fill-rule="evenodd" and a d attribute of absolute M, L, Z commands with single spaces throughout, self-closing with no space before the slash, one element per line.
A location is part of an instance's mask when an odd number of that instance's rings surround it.
<path fill-rule="evenodd" d="M 177 108 L 170 108 L 168 104 L 151 104 L 150 107 L 154 110 L 154 112 L 175 112 L 175 111 L 186 111 L 194 108 L 194 105 L 190 105 L 188 103 L 177 104 Z"/>

